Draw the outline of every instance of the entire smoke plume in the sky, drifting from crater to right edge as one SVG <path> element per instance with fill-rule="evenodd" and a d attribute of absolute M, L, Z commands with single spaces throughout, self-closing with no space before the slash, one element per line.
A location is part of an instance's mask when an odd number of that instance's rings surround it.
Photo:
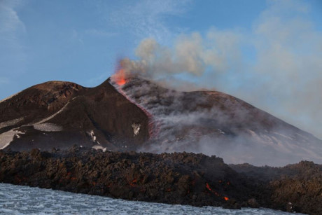
<path fill-rule="evenodd" d="M 304 4 L 273 1 L 251 32 L 212 28 L 180 35 L 171 48 L 148 38 L 135 52 L 138 59 L 122 64 L 127 74 L 162 79 L 178 90 L 167 80 L 179 75 L 197 88 L 228 92 L 322 138 L 322 34 L 308 13 Z"/>

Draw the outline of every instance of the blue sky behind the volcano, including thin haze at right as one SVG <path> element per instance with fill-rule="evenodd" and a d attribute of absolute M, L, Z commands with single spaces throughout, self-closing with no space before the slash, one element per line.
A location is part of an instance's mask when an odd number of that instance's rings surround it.
<path fill-rule="evenodd" d="M 205 69 L 176 78 L 322 138 L 319 0 L 0 0 L 0 99 L 52 80 L 99 85 L 147 38 L 174 55 L 200 47 Z"/>

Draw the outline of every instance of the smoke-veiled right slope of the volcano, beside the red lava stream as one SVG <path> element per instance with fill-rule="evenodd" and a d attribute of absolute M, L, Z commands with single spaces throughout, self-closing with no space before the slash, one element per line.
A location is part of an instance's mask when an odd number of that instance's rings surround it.
<path fill-rule="evenodd" d="M 322 163 L 320 139 L 223 92 L 177 92 L 142 78 L 114 85 L 153 115 L 155 137 L 142 151 L 192 151 L 253 165 Z"/>

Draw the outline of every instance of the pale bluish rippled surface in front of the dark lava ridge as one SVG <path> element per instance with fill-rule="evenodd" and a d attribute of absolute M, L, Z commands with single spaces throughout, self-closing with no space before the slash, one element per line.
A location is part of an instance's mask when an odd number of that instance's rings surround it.
<path fill-rule="evenodd" d="M 223 209 L 137 202 L 0 183 L 0 214 L 290 214 L 272 209 Z"/>

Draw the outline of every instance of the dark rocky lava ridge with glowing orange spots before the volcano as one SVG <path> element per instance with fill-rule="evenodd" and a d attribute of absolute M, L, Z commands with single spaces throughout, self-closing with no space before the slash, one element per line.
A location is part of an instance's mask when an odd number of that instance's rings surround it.
<path fill-rule="evenodd" d="M 0 182 L 169 204 L 322 213 L 322 165 L 226 165 L 195 153 L 0 151 Z"/>

